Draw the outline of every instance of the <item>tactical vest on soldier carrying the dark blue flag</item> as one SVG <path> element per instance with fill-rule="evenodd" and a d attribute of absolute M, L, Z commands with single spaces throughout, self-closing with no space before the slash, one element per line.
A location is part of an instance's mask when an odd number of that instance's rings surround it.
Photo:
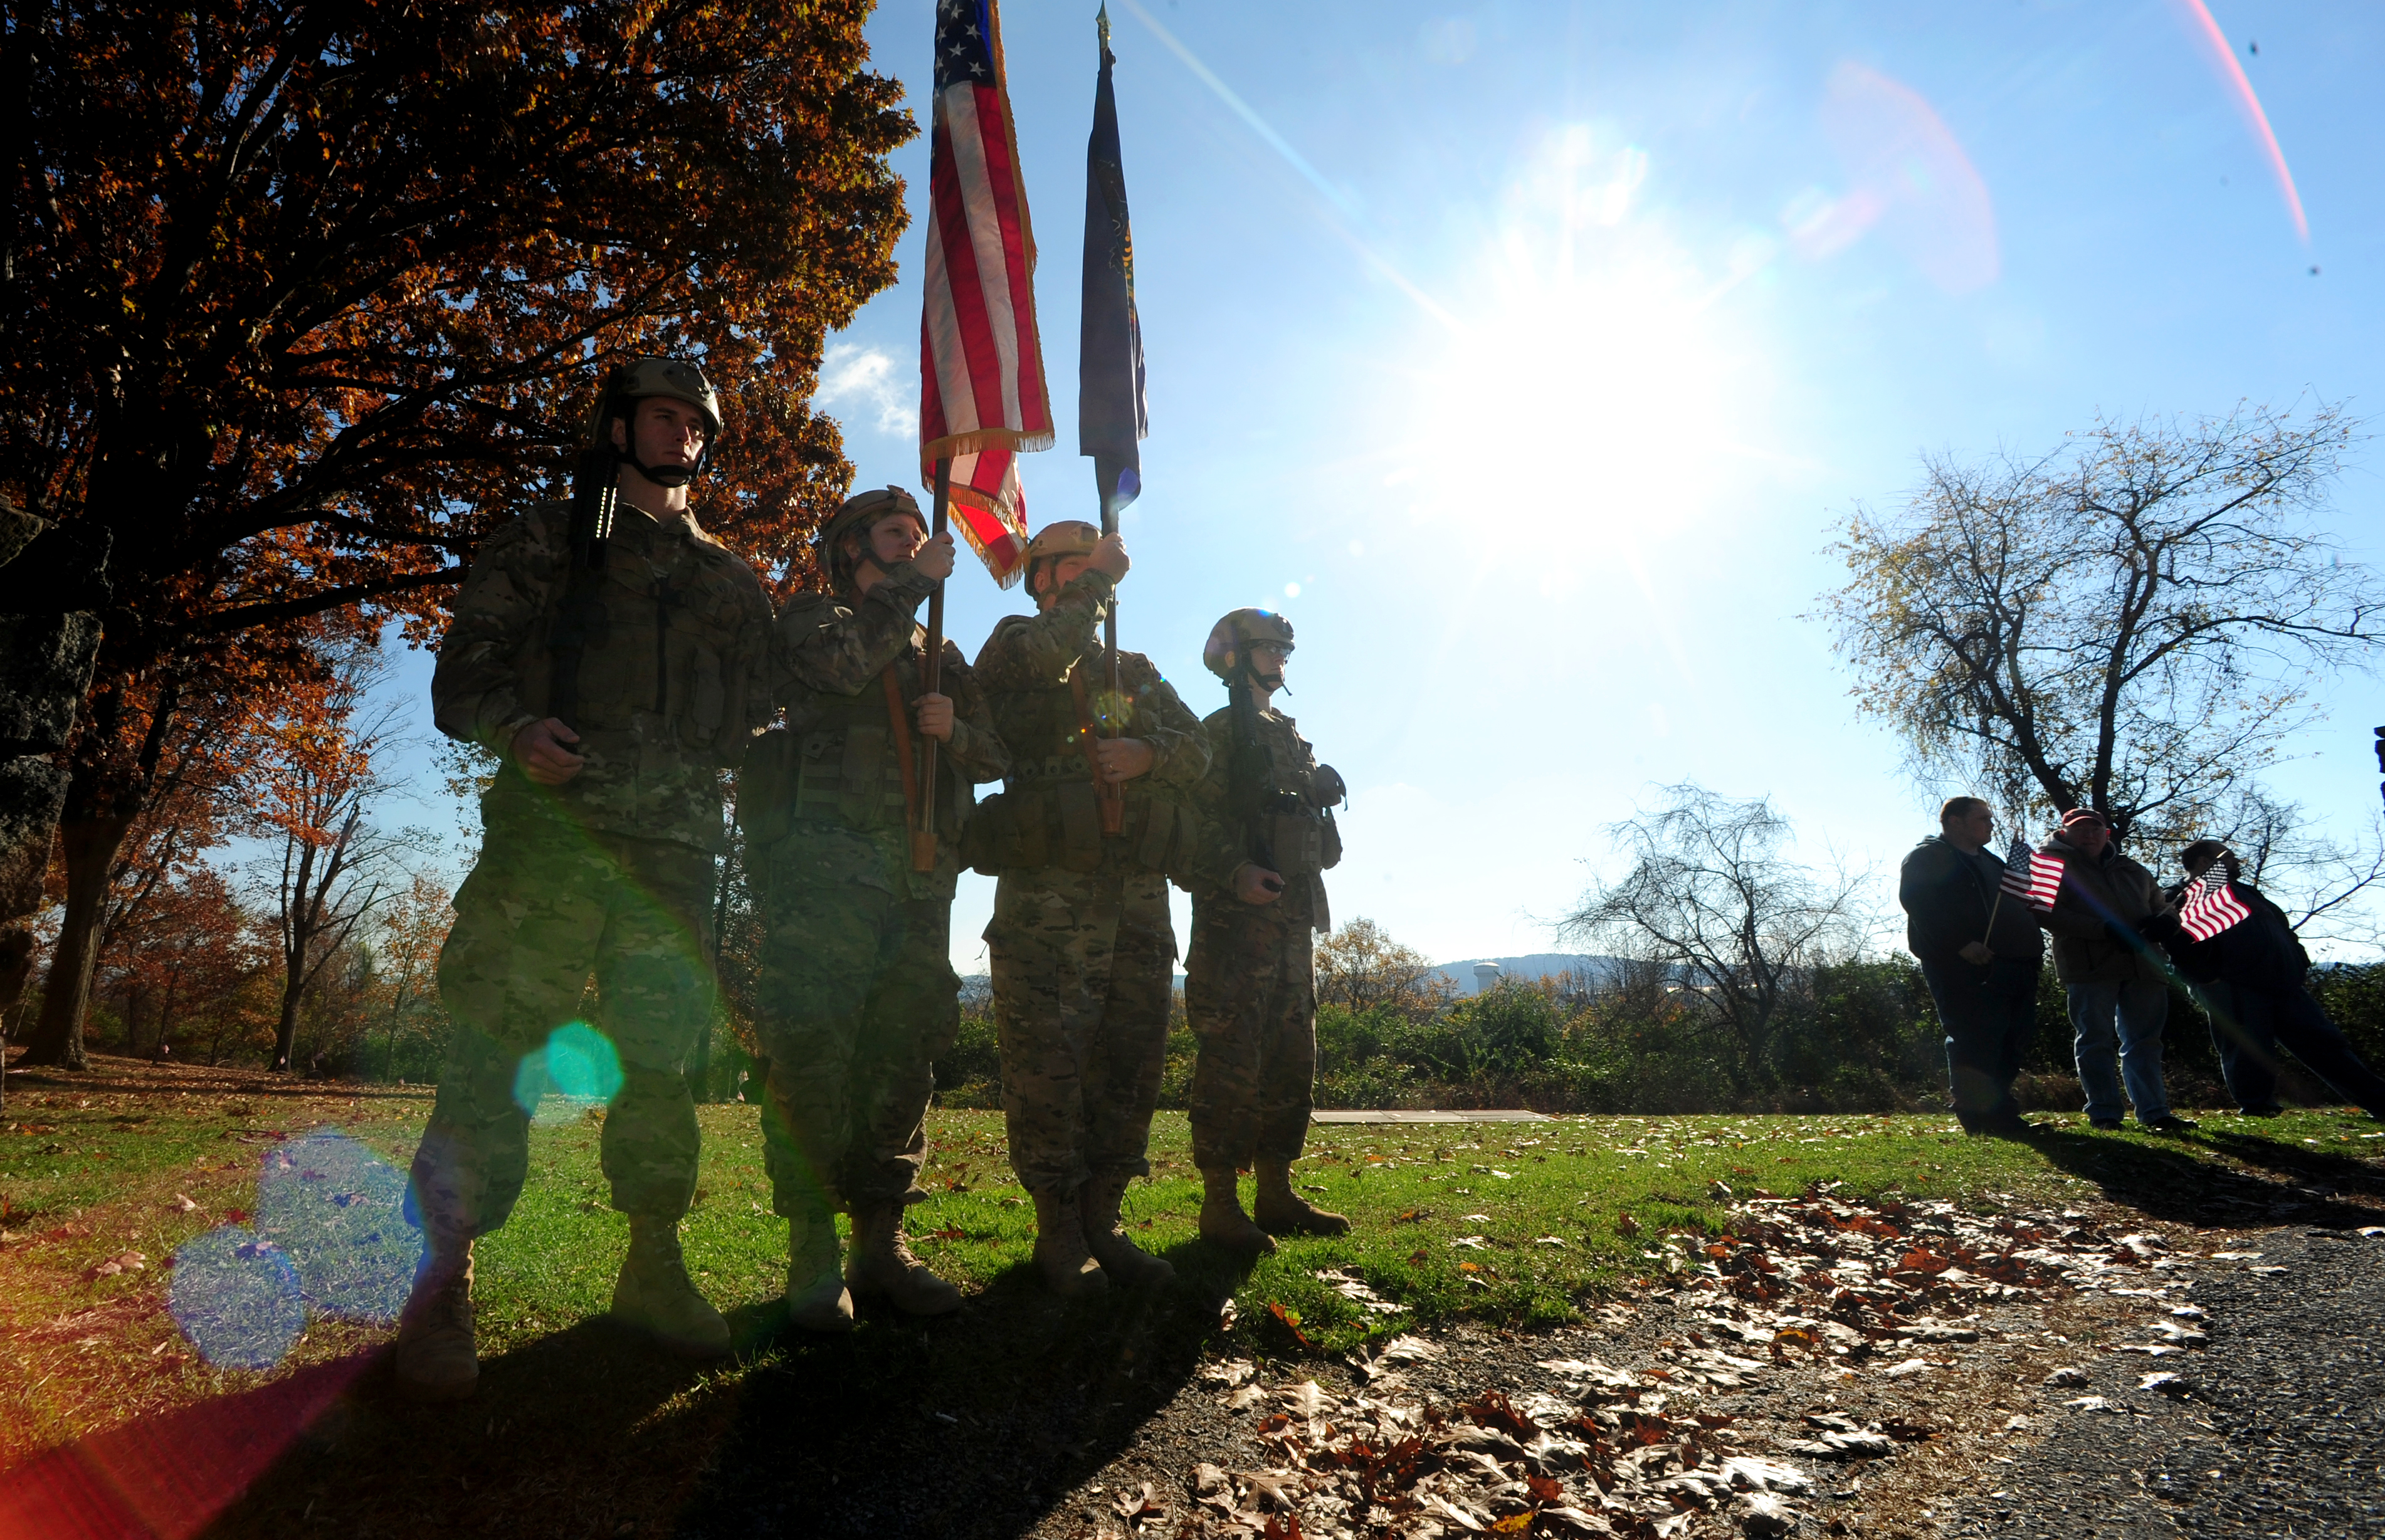
<path fill-rule="evenodd" d="M 1080 710 L 1078 689 L 1009 691 L 995 715 L 1011 751 L 1011 775 L 999 794 L 978 803 L 961 846 L 973 870 L 995 877 L 1040 868 L 1169 875 L 1188 868 L 1200 846 L 1200 815 L 1152 787 L 1150 777 L 1126 782 L 1126 822 L 1116 834 L 1102 834 L 1102 801 L 1085 744 L 1090 713 Z"/>

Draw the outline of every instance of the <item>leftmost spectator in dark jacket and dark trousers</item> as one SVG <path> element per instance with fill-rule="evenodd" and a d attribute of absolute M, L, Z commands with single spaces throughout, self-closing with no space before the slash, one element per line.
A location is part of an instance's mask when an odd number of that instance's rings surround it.
<path fill-rule="evenodd" d="M 1939 808 L 1939 832 L 1913 846 L 1896 882 L 1906 946 L 1920 958 L 1946 1027 L 1946 1089 L 1975 1135 L 2027 1130 L 2013 1075 L 2037 1027 L 2037 973 L 2046 942 L 2030 906 L 2006 896 L 2003 863 L 1987 851 L 1996 820 L 1977 796 Z"/>

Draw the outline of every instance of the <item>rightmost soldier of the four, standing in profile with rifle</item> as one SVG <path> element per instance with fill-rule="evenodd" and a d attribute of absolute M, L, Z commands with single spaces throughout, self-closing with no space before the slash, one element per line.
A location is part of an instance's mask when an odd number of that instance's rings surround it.
<path fill-rule="evenodd" d="M 1333 803 L 1340 775 L 1319 765 L 1293 718 L 1269 706 L 1283 689 L 1293 622 L 1233 610 L 1209 632 L 1202 663 L 1231 703 L 1202 720 L 1209 772 L 1200 784 L 1204 842 L 1192 863 L 1192 956 L 1185 1011 L 1192 1061 L 1192 1163 L 1202 1173 L 1200 1232 L 1233 1252 L 1274 1252 L 1274 1235 L 1340 1235 L 1350 1221 L 1293 1192 L 1317 1080 L 1317 968 L 1309 932 L 1331 930 L 1324 873 L 1340 863 Z M 1257 1221 L 1235 1173 L 1257 1166 Z"/>

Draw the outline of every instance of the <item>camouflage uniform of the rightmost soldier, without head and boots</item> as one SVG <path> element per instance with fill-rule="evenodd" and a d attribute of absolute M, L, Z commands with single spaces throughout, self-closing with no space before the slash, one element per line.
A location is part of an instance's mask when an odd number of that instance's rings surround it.
<path fill-rule="evenodd" d="M 1257 1159 L 1293 1161 L 1309 1132 L 1317 1080 L 1317 968 L 1309 932 L 1331 930 L 1324 875 L 1340 863 L 1331 803 L 1338 780 L 1293 718 L 1262 708 L 1257 739 L 1266 751 L 1276 806 L 1235 815 L 1231 765 L 1233 708 L 1202 720 L 1209 772 L 1197 803 L 1204 822 L 1192 863 L 1192 951 L 1185 958 L 1185 1013 L 1200 1039 L 1192 1063 L 1192 1163 L 1202 1170 L 1247 1168 Z M 1233 873 L 1245 861 L 1283 877 L 1274 903 L 1243 903 Z"/>

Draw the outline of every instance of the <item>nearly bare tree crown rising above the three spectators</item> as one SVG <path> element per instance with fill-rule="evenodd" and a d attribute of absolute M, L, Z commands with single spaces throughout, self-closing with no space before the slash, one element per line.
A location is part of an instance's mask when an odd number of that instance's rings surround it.
<path fill-rule="evenodd" d="M 2311 720 L 2313 682 L 2385 641 L 2385 586 L 2316 522 L 2356 429 L 2242 408 L 1927 460 L 1903 510 L 1858 510 L 1839 544 L 1825 615 L 1860 710 L 1918 780 L 2022 820 L 2211 832 Z"/>

